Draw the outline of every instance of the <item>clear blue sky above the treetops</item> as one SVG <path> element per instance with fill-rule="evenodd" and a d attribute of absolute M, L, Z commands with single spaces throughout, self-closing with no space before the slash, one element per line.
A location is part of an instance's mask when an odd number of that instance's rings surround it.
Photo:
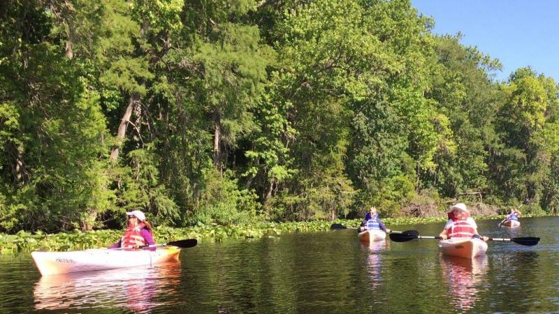
<path fill-rule="evenodd" d="M 559 0 L 412 0 L 433 17 L 434 33 L 463 34 L 462 43 L 499 59 L 507 80 L 530 66 L 559 83 Z"/>

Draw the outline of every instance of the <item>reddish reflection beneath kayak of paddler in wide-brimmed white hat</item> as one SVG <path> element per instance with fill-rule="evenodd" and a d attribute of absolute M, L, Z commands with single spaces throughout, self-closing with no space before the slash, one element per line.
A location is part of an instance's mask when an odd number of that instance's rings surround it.
<path fill-rule="evenodd" d="M 450 304 L 458 311 L 473 308 L 481 298 L 479 284 L 483 283 L 488 269 L 487 255 L 467 259 L 440 255 L 442 274 L 449 284 Z"/>

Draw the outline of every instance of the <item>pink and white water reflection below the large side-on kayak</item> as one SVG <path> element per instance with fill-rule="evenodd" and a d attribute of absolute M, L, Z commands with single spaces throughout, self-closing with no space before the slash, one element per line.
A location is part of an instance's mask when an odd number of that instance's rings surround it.
<path fill-rule="evenodd" d="M 157 267 L 132 267 L 43 276 L 34 287 L 36 310 L 95 306 L 129 308 L 147 313 L 160 306 L 158 297 L 172 301 L 180 283 L 180 262 Z"/>

